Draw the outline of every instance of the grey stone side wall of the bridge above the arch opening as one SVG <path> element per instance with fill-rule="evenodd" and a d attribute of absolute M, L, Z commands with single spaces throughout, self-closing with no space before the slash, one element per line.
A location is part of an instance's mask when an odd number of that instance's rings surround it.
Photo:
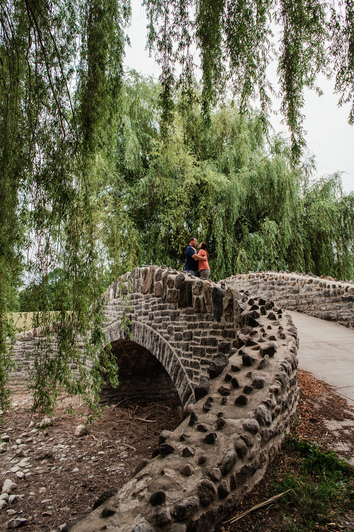
<path fill-rule="evenodd" d="M 122 292 L 130 301 L 132 340 L 161 362 L 182 404 L 194 402 L 193 389 L 201 376 L 208 375 L 213 356 L 229 355 L 235 348 L 242 323 L 233 309 L 232 291 L 226 298 L 230 309 L 225 315 L 223 283 L 201 281 L 166 267 L 135 268 L 114 281 L 105 294 L 111 342 L 129 339 L 120 327 Z"/>

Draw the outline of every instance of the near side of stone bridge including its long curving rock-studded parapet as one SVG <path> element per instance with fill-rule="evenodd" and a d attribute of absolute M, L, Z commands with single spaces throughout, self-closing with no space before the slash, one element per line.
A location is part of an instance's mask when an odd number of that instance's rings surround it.
<path fill-rule="evenodd" d="M 127 296 L 131 336 L 120 320 Z M 127 484 L 70 530 L 211 532 L 262 478 L 296 416 L 297 329 L 268 294 L 250 298 L 164 266 L 134 268 L 104 297 L 107 339 L 129 366 L 126 379 L 137 375 L 140 396 L 151 386 L 167 395 L 168 375 L 185 418 L 161 433 L 158 450 Z M 114 393 L 107 383 L 105 400 L 116 401 Z"/>

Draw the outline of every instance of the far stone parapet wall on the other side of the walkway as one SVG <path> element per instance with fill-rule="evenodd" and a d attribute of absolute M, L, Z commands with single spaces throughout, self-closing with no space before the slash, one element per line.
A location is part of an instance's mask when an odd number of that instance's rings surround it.
<path fill-rule="evenodd" d="M 222 282 L 237 290 L 245 290 L 250 296 L 269 298 L 281 308 L 354 327 L 353 281 L 266 271 L 242 273 Z"/>

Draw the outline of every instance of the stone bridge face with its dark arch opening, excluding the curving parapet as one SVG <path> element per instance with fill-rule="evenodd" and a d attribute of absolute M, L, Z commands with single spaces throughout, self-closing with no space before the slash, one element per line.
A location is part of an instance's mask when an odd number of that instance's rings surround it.
<path fill-rule="evenodd" d="M 224 284 L 157 266 L 134 268 L 114 281 L 105 294 L 104 312 L 121 385 L 115 390 L 105 386 L 102 401 L 178 392 L 184 408 L 194 403 L 194 389 L 208 376 L 213 356 L 235 351 L 243 322 L 253 320 L 240 320 L 234 293 L 229 289 L 226 294 Z M 127 304 L 130 334 L 120 325 Z"/>

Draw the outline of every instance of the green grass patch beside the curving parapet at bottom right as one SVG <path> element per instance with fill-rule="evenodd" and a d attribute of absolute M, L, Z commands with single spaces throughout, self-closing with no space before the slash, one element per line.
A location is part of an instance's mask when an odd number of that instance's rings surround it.
<path fill-rule="evenodd" d="M 285 456 L 290 458 L 291 467 L 285 465 L 284 469 Z M 279 525 L 283 530 L 321 530 L 335 522 L 339 512 L 354 508 L 353 468 L 333 451 L 287 437 L 277 462 L 277 480 L 269 482 L 272 492 L 291 490 L 275 505 L 282 510 Z"/>

